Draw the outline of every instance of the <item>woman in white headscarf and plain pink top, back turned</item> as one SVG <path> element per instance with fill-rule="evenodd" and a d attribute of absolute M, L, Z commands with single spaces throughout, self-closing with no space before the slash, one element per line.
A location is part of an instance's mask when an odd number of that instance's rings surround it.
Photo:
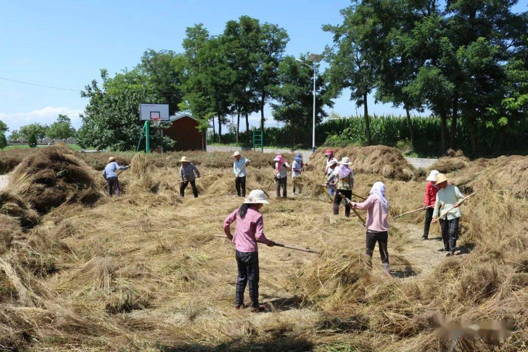
<path fill-rule="evenodd" d="M 389 201 L 385 196 L 385 185 L 382 182 L 375 182 L 370 189 L 369 197 L 364 202 L 351 202 L 351 204 L 354 209 L 366 209 L 367 211 L 366 255 L 369 257 L 369 265 L 372 267 L 372 252 L 378 242 L 383 271 L 389 275 L 389 252 L 387 251 Z"/>

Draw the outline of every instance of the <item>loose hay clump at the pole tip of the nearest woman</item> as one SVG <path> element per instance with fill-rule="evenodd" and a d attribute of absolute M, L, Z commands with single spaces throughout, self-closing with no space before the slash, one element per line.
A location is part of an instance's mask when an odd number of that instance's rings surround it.
<path fill-rule="evenodd" d="M 371 270 L 360 251 L 327 248 L 295 278 L 298 296 L 322 308 L 355 302 L 370 283 Z"/>

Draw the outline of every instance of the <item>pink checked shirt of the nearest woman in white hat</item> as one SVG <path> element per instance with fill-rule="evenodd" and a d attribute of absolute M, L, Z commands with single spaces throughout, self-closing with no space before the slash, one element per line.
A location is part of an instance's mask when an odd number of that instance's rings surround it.
<path fill-rule="evenodd" d="M 262 214 L 255 210 L 252 206 L 249 207 L 248 212 L 244 218 L 240 217 L 240 209 L 236 208 L 224 221 L 225 227 L 229 228 L 234 221 L 237 222 L 237 228 L 234 230 L 233 243 L 239 252 L 257 252 L 257 241 L 268 243 L 268 239 L 264 235 L 264 221 Z"/>

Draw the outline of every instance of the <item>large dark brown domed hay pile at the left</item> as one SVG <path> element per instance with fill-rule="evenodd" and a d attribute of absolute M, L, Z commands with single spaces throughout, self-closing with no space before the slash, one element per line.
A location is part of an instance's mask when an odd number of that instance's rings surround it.
<path fill-rule="evenodd" d="M 13 171 L 8 188 L 40 214 L 66 202 L 93 204 L 101 195 L 92 170 L 72 149 L 61 145 L 41 148 L 24 158 Z"/>

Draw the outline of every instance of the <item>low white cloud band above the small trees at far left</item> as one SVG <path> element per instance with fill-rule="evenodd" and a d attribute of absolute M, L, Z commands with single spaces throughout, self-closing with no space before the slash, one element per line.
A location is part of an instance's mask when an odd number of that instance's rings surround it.
<path fill-rule="evenodd" d="M 81 119 L 79 114 L 82 110 L 70 109 L 67 107 L 45 107 L 39 110 L 33 110 L 29 112 L 15 112 L 15 113 L 4 113 L 0 112 L 0 120 L 4 121 L 9 127 L 9 130 L 19 129 L 21 126 L 29 123 L 42 123 L 43 125 L 50 125 L 55 122 L 59 114 L 68 115 L 71 119 L 73 127 L 79 128 L 81 126 Z"/>

